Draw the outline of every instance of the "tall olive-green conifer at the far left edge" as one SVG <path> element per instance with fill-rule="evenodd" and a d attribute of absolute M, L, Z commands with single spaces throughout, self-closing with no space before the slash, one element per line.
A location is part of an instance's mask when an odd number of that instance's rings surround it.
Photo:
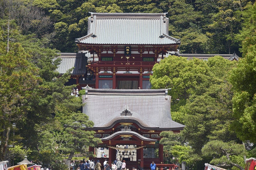
<path fill-rule="evenodd" d="M 22 120 L 30 109 L 28 101 L 33 89 L 40 83 L 38 69 L 28 60 L 30 55 L 19 43 L 10 43 L 10 51 L 6 53 L 6 45 L 1 44 L 1 160 L 5 160 L 9 133 L 12 123 Z M 4 49 L 4 50 L 3 50 Z M 14 143 L 13 143 L 14 144 Z"/>

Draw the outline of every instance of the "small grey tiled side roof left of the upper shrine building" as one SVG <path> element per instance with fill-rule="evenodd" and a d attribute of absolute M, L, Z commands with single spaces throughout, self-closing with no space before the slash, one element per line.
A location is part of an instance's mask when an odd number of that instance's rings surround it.
<path fill-rule="evenodd" d="M 86 73 L 86 65 L 83 65 L 83 62 L 87 62 L 87 58 L 84 61 L 81 56 L 77 56 L 76 53 L 59 53 L 60 56 L 57 58 L 61 58 L 61 62 L 56 71 L 60 74 L 65 74 L 69 69 L 74 69 L 71 71 L 73 75 L 83 75 Z M 90 56 L 90 53 L 85 55 Z M 56 59 L 57 59 L 56 58 Z M 82 61 L 83 60 L 83 61 Z M 84 63 L 85 64 L 85 63 Z"/>

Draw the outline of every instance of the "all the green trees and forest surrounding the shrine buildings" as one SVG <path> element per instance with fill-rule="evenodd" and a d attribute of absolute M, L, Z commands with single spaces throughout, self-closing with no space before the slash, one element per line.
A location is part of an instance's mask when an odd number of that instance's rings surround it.
<path fill-rule="evenodd" d="M 189 169 L 206 162 L 243 169 L 245 157 L 256 157 L 254 1 L 0 2 L 0 160 L 16 164 L 27 155 L 66 169 L 63 159 L 88 158 L 88 146 L 99 142 L 93 131 L 81 131 L 93 122 L 55 60 L 56 52 L 78 50 L 74 41 L 87 34 L 89 12 L 168 12 L 169 35 L 181 39 L 181 53 L 239 53 L 239 62 L 173 56 L 154 66 L 153 88 L 172 88 L 172 117 L 186 126 L 180 134 L 163 132 L 160 143 L 166 163 L 184 161 Z"/>

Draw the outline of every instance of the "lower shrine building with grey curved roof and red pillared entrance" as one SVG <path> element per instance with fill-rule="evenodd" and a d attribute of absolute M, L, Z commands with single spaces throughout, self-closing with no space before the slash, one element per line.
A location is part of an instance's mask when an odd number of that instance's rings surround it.
<path fill-rule="evenodd" d="M 129 169 L 150 168 L 152 161 L 164 163 L 159 134 L 184 128 L 172 120 L 167 89 L 85 89 L 83 113 L 94 122 L 86 130 L 95 131 L 102 141 L 89 149 L 97 157 L 94 160 L 125 160 Z"/>

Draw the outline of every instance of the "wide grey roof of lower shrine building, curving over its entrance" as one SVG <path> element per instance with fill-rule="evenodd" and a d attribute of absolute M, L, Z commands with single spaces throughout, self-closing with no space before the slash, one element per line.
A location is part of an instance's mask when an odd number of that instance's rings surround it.
<path fill-rule="evenodd" d="M 165 89 L 88 89 L 83 96 L 83 113 L 94 122 L 94 128 L 106 128 L 117 120 L 136 120 L 146 129 L 182 130 L 170 115 L 170 96 Z M 97 104 L 97 106 L 95 106 Z M 121 115 L 126 108 L 130 114 Z"/>

